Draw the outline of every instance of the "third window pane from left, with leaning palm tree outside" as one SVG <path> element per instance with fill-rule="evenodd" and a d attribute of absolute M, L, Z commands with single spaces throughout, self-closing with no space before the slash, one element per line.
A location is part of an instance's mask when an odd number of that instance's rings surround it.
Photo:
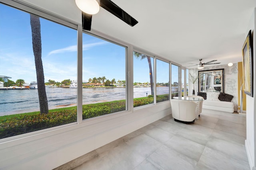
<path fill-rule="evenodd" d="M 154 103 L 154 59 L 147 55 L 133 52 L 133 106 Z"/>

